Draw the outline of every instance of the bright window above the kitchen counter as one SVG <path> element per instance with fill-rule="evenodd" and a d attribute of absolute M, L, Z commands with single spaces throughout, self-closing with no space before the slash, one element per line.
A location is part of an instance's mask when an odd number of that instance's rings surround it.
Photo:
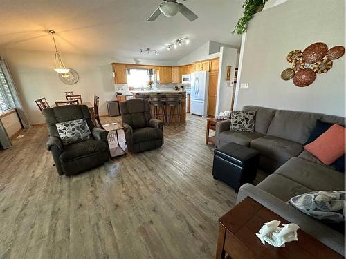
<path fill-rule="evenodd" d="M 149 81 L 154 81 L 152 69 L 127 69 L 127 84 L 133 88 L 149 88 Z"/>

